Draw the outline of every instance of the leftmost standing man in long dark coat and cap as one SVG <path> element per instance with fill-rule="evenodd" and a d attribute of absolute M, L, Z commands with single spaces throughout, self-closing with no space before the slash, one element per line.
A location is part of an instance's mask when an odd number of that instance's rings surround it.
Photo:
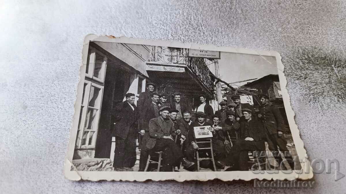
<path fill-rule="evenodd" d="M 127 93 L 126 101 L 119 103 L 113 110 L 116 123 L 112 136 L 116 137 L 113 167 L 115 171 L 133 171 L 136 162 L 136 138 L 138 134 L 138 112 L 135 94 Z"/>

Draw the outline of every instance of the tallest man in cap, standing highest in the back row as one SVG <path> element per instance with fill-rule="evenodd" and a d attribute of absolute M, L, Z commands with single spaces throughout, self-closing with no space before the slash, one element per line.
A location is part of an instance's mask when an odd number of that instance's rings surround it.
<path fill-rule="evenodd" d="M 149 105 L 152 102 L 152 93 L 153 93 L 156 85 L 149 82 L 146 84 L 146 86 L 147 86 L 146 91 L 140 93 L 140 95 L 138 97 L 138 101 L 137 101 L 139 120 L 144 119 L 143 117 L 145 116 L 145 113 L 147 112 L 147 108 L 149 107 Z M 148 123 L 149 123 L 149 121 L 148 121 Z M 145 133 L 145 130 L 140 128 L 140 127 L 139 127 L 139 129 L 140 129 L 140 136 L 143 136 Z M 141 137 L 138 139 L 138 142 L 139 142 L 139 146 L 142 145 L 142 138 Z"/>

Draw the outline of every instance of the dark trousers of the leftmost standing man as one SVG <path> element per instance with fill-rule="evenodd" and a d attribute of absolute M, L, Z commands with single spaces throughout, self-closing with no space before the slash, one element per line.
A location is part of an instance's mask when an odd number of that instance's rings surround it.
<path fill-rule="evenodd" d="M 130 167 L 136 163 L 136 138 L 128 135 L 125 139 L 116 136 L 113 167 Z"/>

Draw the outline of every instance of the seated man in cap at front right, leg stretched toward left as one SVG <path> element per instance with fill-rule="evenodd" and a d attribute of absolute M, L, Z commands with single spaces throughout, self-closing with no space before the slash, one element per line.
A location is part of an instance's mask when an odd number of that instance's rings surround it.
<path fill-rule="evenodd" d="M 266 135 L 263 126 L 251 118 L 252 110 L 242 109 L 244 121 L 240 123 L 240 138 L 234 143 L 230 153 L 225 159 L 217 161 L 221 166 L 233 165 L 226 171 L 247 171 L 248 154 L 251 151 L 265 151 L 264 141 Z"/>

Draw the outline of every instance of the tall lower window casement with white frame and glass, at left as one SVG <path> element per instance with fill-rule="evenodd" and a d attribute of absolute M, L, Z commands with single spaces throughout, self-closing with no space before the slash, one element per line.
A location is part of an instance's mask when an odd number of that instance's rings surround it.
<path fill-rule="evenodd" d="M 99 124 L 103 86 L 85 81 L 79 115 L 76 148 L 94 148 Z"/>

